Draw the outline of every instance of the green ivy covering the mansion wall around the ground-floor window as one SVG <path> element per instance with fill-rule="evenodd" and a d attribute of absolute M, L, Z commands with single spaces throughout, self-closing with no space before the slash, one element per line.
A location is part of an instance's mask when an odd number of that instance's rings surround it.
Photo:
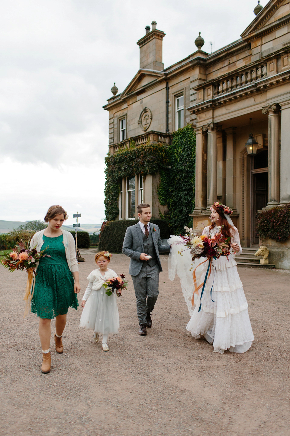
<path fill-rule="evenodd" d="M 194 208 L 195 132 L 189 124 L 173 132 L 170 146 L 147 143 L 108 155 L 106 161 L 105 213 L 108 221 L 119 215 L 118 198 L 123 177 L 160 174 L 158 200 L 167 204 L 169 213 L 161 218 L 168 221 L 172 233 L 183 232 L 190 222 Z M 171 168 L 169 168 L 171 167 Z"/>

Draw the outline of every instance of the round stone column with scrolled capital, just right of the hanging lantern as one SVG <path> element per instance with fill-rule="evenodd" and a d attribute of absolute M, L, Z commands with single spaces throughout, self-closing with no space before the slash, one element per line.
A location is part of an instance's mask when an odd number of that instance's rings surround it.
<path fill-rule="evenodd" d="M 263 106 L 262 112 L 268 114 L 268 203 L 273 208 L 280 203 L 280 146 L 279 112 L 280 105 Z"/>

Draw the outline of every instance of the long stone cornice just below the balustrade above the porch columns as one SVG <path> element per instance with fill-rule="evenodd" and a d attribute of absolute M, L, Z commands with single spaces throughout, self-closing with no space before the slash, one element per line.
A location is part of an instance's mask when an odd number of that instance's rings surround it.
<path fill-rule="evenodd" d="M 231 90 L 229 92 L 224 92 L 223 94 L 216 95 L 210 100 L 206 100 L 198 103 L 197 105 L 190 106 L 187 108 L 188 112 L 195 114 L 197 112 L 203 112 L 207 109 L 215 108 L 219 105 L 224 105 L 232 102 L 236 99 L 247 98 L 254 92 L 261 92 L 273 85 L 279 85 L 290 80 L 290 70 L 286 72 L 281 72 L 272 76 L 266 76 L 253 83 L 243 85 L 237 89 Z"/>

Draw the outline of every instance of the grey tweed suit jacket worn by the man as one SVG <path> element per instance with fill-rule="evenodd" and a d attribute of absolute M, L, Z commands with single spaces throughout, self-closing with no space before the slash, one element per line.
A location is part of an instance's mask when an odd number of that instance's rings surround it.
<path fill-rule="evenodd" d="M 158 225 L 149 222 L 149 228 L 153 238 L 158 266 L 160 268 L 160 271 L 162 271 L 159 253 L 169 252 L 170 246 L 168 244 L 162 245 L 162 241 L 160 238 L 160 230 Z M 155 232 L 154 232 L 154 228 L 155 228 Z M 129 256 L 131 258 L 130 266 L 129 266 L 129 274 L 131 276 L 137 276 L 137 274 L 139 274 L 139 272 L 141 271 L 143 265 L 143 261 L 140 260 L 140 255 L 141 253 L 144 252 L 142 230 L 140 228 L 139 223 L 127 228 L 124 242 L 123 242 L 122 252 L 126 254 L 126 256 Z"/>

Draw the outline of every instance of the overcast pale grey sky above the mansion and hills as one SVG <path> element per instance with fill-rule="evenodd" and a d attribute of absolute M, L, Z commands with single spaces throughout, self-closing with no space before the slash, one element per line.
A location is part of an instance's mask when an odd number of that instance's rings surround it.
<path fill-rule="evenodd" d="M 265 6 L 266 2 L 261 1 Z M 108 112 L 139 69 L 157 21 L 168 67 L 239 39 L 256 0 L 0 0 L 0 219 L 43 219 L 61 204 L 84 223 L 104 218 Z"/>

